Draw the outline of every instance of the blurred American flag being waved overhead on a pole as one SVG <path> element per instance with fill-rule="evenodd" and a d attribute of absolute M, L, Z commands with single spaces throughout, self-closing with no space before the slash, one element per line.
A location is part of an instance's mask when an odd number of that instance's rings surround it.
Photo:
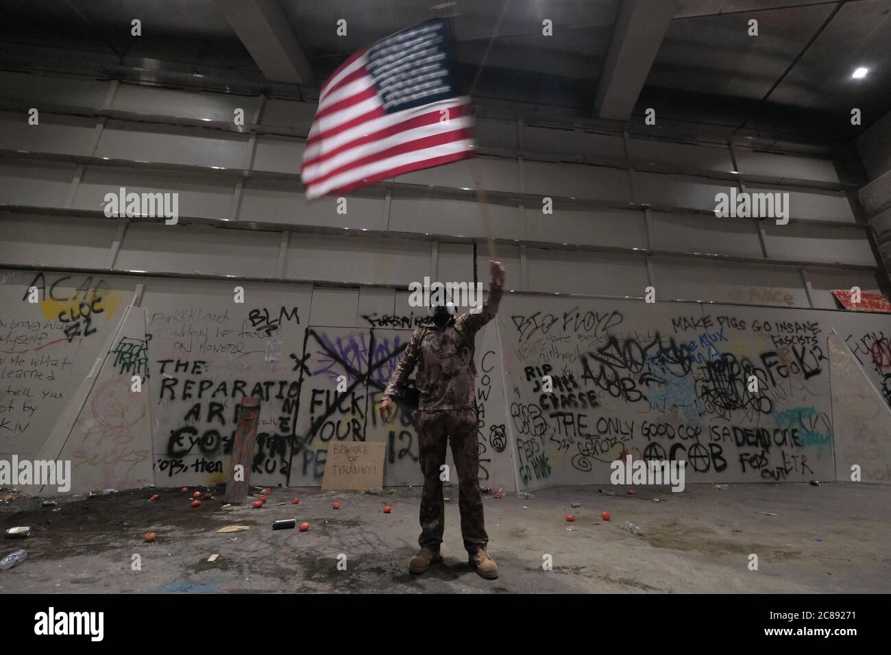
<path fill-rule="evenodd" d="M 354 53 L 322 86 L 303 152 L 308 200 L 471 156 L 470 98 L 456 92 L 444 20 Z"/>

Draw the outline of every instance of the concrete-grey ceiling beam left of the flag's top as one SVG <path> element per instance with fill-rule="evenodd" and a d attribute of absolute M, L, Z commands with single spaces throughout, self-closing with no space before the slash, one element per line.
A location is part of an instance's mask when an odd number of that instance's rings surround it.
<path fill-rule="evenodd" d="M 307 55 L 277 0 L 217 0 L 217 6 L 266 79 L 314 84 Z"/>

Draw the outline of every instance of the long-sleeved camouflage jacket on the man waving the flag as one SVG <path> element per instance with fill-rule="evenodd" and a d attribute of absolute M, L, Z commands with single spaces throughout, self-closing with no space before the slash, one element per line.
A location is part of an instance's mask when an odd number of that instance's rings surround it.
<path fill-rule="evenodd" d="M 415 386 L 421 393 L 420 409 L 437 411 L 476 406 L 477 366 L 474 341 L 479 329 L 495 318 L 502 287 L 492 282 L 478 314 L 451 317 L 440 330 L 433 323 L 418 327 L 405 347 L 405 355 L 390 376 L 384 398 L 392 400 L 396 388 L 417 368 Z"/>

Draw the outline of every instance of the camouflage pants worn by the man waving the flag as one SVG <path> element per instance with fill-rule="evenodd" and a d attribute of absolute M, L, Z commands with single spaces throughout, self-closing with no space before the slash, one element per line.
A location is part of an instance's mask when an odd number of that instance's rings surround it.
<path fill-rule="evenodd" d="M 443 541 L 446 507 L 439 467 L 446 463 L 446 440 L 452 443 L 452 457 L 458 474 L 458 509 L 461 511 L 461 535 L 468 553 L 486 548 L 483 498 L 479 491 L 479 453 L 477 446 L 477 410 L 438 410 L 418 413 L 421 472 L 421 547 L 436 550 Z"/>

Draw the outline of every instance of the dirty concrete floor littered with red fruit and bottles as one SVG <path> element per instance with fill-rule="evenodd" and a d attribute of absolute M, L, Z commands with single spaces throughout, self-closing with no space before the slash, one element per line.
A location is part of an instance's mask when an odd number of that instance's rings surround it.
<path fill-rule="evenodd" d="M 218 501 L 192 509 L 178 488 L 75 496 L 58 508 L 36 498 L 12 501 L 0 504 L 0 528 L 34 532 L 0 540 L 0 558 L 20 547 L 29 553 L 0 571 L 0 593 L 891 591 L 889 486 L 688 485 L 681 494 L 650 487 L 636 495 L 601 488 L 616 495 L 598 487 L 552 487 L 529 499 L 484 495 L 489 553 L 500 568 L 493 581 L 466 563 L 457 487 L 446 489 L 446 559 L 421 576 L 406 570 L 419 532 L 417 487 L 383 496 L 275 488 L 259 510 L 225 510 Z M 148 503 L 154 493 L 161 498 Z M 295 495 L 298 505 L 290 504 Z M 385 504 L 392 513 L 382 512 Z M 310 530 L 272 530 L 273 520 L 294 517 Z M 642 534 L 626 531 L 625 521 Z M 227 525 L 250 529 L 217 534 Z M 143 542 L 149 530 L 158 534 L 155 544 Z M 217 561 L 208 562 L 213 553 Z M 347 570 L 337 568 L 339 553 Z M 758 556 L 756 571 L 748 569 L 749 553 Z M 142 570 L 131 568 L 134 554 Z"/>

